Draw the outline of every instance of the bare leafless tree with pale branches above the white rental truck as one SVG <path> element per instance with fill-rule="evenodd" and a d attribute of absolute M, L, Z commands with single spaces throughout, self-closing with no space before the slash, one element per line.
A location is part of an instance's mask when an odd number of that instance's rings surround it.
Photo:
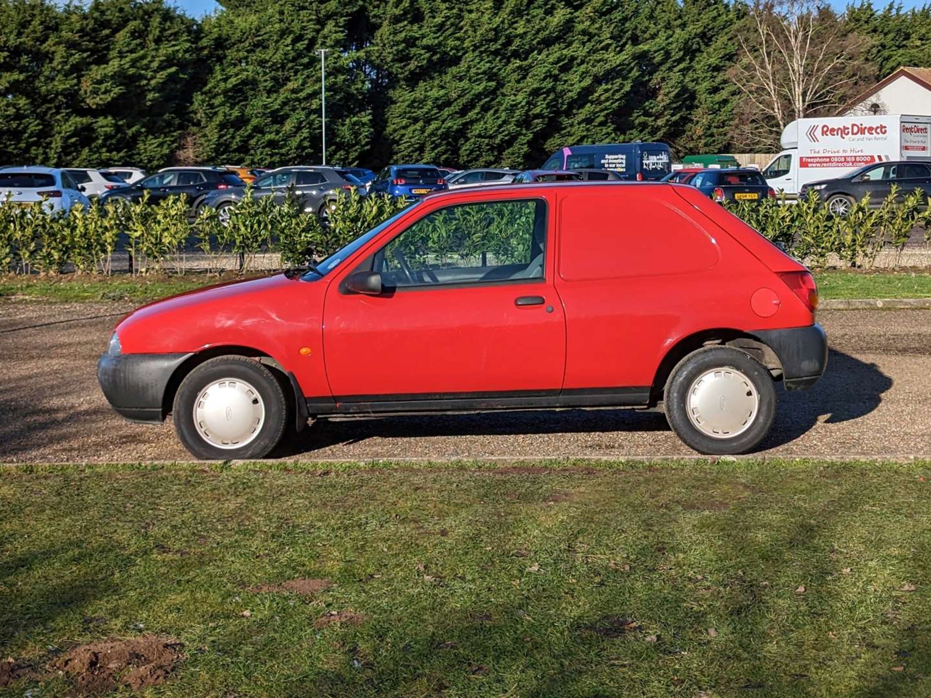
<path fill-rule="evenodd" d="M 872 77 L 864 40 L 817 0 L 756 0 L 737 42 L 736 140 L 748 147 L 777 148 L 790 121 L 834 114 Z"/>

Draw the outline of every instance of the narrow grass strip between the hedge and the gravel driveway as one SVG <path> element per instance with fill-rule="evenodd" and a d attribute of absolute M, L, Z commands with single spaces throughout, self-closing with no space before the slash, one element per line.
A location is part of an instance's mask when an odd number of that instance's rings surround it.
<path fill-rule="evenodd" d="M 929 298 L 931 271 L 859 272 L 830 270 L 815 273 L 823 299 Z M 0 298 L 53 302 L 149 302 L 210 284 L 235 280 L 217 275 L 0 275 Z"/>

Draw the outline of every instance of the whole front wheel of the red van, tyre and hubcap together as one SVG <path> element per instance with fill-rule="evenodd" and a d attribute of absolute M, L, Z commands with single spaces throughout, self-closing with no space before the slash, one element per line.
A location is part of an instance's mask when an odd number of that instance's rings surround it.
<path fill-rule="evenodd" d="M 175 432 L 197 458 L 263 458 L 284 434 L 288 400 L 258 361 L 218 356 L 185 376 L 172 414 Z"/>

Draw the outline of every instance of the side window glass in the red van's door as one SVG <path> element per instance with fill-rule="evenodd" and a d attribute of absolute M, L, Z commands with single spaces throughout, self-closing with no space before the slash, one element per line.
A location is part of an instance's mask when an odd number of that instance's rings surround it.
<path fill-rule="evenodd" d="M 543 278 L 546 202 L 487 201 L 440 208 L 375 254 L 386 287 Z"/>

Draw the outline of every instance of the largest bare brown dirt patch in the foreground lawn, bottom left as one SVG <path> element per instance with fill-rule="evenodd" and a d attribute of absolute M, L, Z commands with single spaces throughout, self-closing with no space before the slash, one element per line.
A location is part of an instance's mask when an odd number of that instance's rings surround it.
<path fill-rule="evenodd" d="M 182 647 L 178 639 L 160 635 L 106 638 L 65 652 L 48 668 L 70 678 L 79 694 L 100 695 L 117 687 L 139 691 L 171 676 L 183 658 Z"/>

